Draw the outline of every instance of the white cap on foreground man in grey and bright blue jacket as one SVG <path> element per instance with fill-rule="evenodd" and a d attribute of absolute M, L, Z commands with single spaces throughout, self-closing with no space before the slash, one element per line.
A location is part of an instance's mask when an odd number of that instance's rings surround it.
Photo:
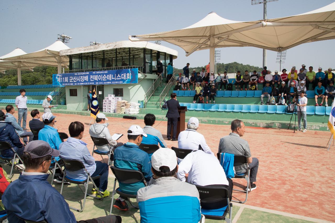
<path fill-rule="evenodd" d="M 169 172 L 177 166 L 176 152 L 170 148 L 159 148 L 151 156 L 152 168 L 159 172 Z M 169 169 L 159 169 L 161 166 L 167 166 Z"/>

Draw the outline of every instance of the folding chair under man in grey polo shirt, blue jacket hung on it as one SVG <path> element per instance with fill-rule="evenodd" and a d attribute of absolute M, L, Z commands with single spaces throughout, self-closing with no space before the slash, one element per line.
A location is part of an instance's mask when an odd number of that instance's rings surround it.
<path fill-rule="evenodd" d="M 223 153 L 217 153 L 217 158 L 219 159 L 219 162 L 223 168 Z M 233 178 L 245 178 L 247 180 L 247 187 L 248 189 L 251 190 L 251 185 L 250 185 L 250 167 L 247 161 L 247 157 L 246 156 L 242 156 L 242 155 L 234 155 L 234 167 L 235 166 L 240 166 L 245 164 L 247 166 L 247 172 L 245 173 L 241 173 L 241 174 L 235 174 L 235 176 Z M 237 202 L 240 204 L 244 204 L 247 202 L 248 200 L 248 192 L 249 190 L 237 190 L 237 189 L 232 189 L 233 191 L 239 191 L 239 192 L 244 192 L 246 193 L 246 200 L 244 201 L 236 201 L 236 200 L 231 200 L 233 202 Z"/>

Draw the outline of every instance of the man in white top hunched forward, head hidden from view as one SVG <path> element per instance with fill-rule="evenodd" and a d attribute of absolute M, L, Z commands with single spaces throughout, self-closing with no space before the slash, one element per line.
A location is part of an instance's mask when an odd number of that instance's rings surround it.
<path fill-rule="evenodd" d="M 229 200 L 231 200 L 232 180 L 229 177 L 226 177 L 220 162 L 215 156 L 207 154 L 202 150 L 197 150 L 187 154 L 187 156 L 179 163 L 177 178 L 185 182 L 185 175 L 187 173 L 187 182 L 195 185 L 228 185 Z"/>

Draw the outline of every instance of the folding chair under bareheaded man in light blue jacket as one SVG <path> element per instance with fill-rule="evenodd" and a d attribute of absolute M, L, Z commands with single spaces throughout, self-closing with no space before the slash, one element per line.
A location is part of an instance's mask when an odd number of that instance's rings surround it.
<path fill-rule="evenodd" d="M 95 199 L 99 199 L 99 200 L 103 200 L 103 195 L 101 194 L 100 190 L 98 187 L 96 187 L 95 183 L 93 180 L 95 179 L 98 179 L 100 178 L 100 175 L 97 175 L 97 176 L 93 176 L 91 177 L 89 172 L 86 170 L 84 164 L 80 161 L 80 160 L 71 160 L 71 159 L 62 159 L 63 162 L 64 162 L 64 176 L 63 176 L 63 180 L 62 180 L 62 187 L 61 187 L 61 192 L 60 194 L 62 194 L 63 192 L 63 186 L 64 186 L 64 180 L 65 178 L 67 179 L 67 181 L 69 181 L 70 183 L 74 183 L 74 184 L 77 184 L 78 187 L 80 188 L 80 190 L 84 193 L 84 202 L 83 202 L 83 205 L 82 205 L 82 208 L 79 210 L 79 209 L 76 209 L 76 208 L 73 208 L 73 207 L 70 207 L 72 210 L 75 210 L 77 212 L 82 212 L 84 210 L 84 207 L 85 207 L 85 201 L 86 201 L 86 196 L 90 196 L 92 198 L 95 198 Z M 84 179 L 84 180 L 77 180 L 77 179 L 72 179 L 70 177 L 67 177 L 66 176 L 66 172 L 69 171 L 77 171 L 77 170 L 80 170 L 80 169 L 84 169 L 86 174 L 87 174 L 87 178 Z M 87 194 L 87 188 L 88 188 L 88 183 L 89 182 L 92 182 L 93 183 L 93 187 L 97 190 L 98 194 L 100 195 L 101 198 L 98 198 L 96 196 L 93 196 L 93 195 L 90 195 L 90 194 Z M 84 185 L 84 188 L 85 188 L 85 191 L 80 187 L 80 184 Z"/>

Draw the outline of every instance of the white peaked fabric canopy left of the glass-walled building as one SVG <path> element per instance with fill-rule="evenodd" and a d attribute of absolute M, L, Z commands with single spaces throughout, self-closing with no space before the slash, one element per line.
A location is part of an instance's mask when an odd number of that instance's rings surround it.
<path fill-rule="evenodd" d="M 59 51 L 70 49 L 62 41 L 56 41 L 52 45 L 33 53 L 25 53 L 20 48 L 0 57 L 0 71 L 17 69 L 17 83 L 21 85 L 21 69 L 30 70 L 37 66 L 58 67 L 58 73 L 62 67 L 68 67 L 69 58 L 60 56 Z"/>

